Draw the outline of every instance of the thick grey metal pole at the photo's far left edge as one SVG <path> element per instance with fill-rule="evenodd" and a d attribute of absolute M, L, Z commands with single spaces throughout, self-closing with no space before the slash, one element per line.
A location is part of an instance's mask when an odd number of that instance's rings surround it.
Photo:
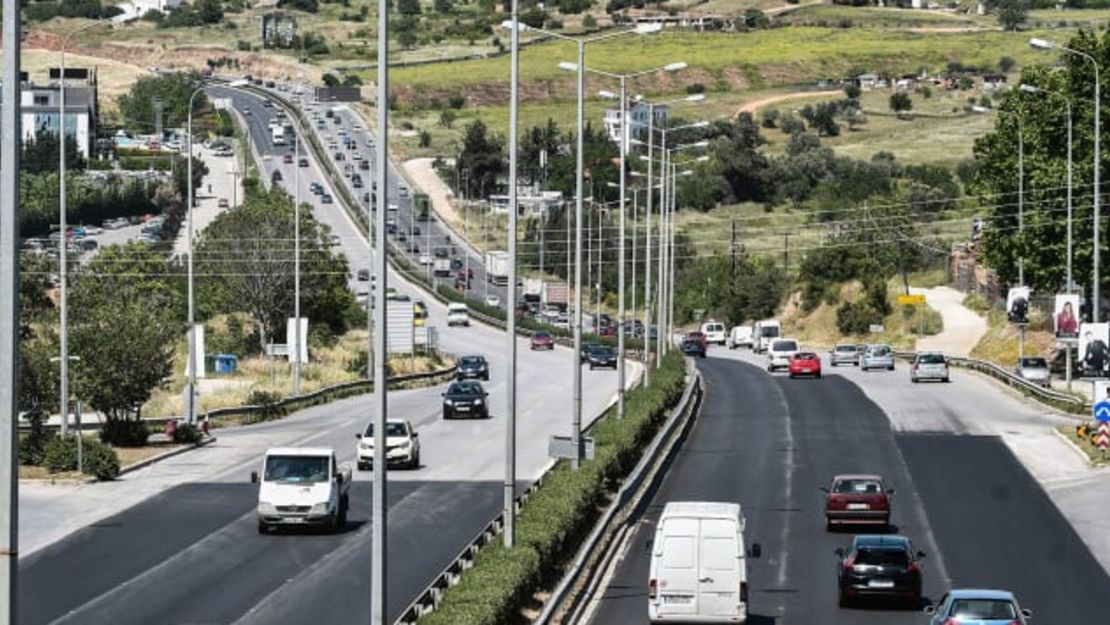
<path fill-rule="evenodd" d="M 3 2 L 0 112 L 0 624 L 16 623 L 19 574 L 19 148 L 20 3 Z"/>

